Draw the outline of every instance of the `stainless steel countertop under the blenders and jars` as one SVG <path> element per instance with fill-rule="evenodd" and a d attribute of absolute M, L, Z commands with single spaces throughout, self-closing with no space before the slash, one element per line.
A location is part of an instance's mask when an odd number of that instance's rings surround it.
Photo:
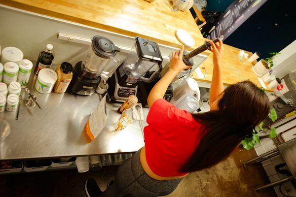
<path fill-rule="evenodd" d="M 37 96 L 37 106 L 27 107 L 23 94 L 19 120 L 16 112 L 4 111 L 0 118 L 8 121 L 10 134 L 0 143 L 0 160 L 31 158 L 53 158 L 83 155 L 135 152 L 144 146 L 139 122 L 114 133 L 114 125 L 120 114 L 116 112 L 120 103 L 108 103 L 109 117 L 105 129 L 91 143 L 87 143 L 83 127 L 100 101 L 95 93 L 91 96 L 65 94 L 40 94 L 35 89 L 35 75 L 32 74 L 28 88 Z M 148 109 L 144 109 L 144 115 Z M 144 127 L 146 121 L 143 122 Z"/>

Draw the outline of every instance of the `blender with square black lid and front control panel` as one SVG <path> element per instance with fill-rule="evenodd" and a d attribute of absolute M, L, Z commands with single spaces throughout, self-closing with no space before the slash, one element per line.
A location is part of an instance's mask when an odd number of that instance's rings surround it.
<path fill-rule="evenodd" d="M 162 57 L 156 42 L 135 37 L 135 43 L 126 60 L 108 79 L 113 101 L 124 101 L 136 95 L 138 82 L 150 83 L 162 70 Z"/>

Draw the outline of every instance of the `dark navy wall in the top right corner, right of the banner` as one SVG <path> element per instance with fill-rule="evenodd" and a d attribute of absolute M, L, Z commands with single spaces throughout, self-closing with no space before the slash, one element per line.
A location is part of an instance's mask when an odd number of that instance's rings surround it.
<path fill-rule="evenodd" d="M 265 58 L 295 39 L 296 0 L 267 0 L 224 43 L 251 52 L 259 51 Z"/>

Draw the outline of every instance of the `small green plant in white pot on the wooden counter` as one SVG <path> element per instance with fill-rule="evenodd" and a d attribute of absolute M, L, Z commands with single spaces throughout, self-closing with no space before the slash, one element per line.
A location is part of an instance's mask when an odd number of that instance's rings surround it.
<path fill-rule="evenodd" d="M 272 53 L 269 53 L 271 57 L 261 59 L 255 66 L 252 67 L 255 74 L 261 77 L 262 75 L 268 73 L 271 67 L 273 66 L 273 58 L 279 54 L 281 53 L 272 52 Z"/>

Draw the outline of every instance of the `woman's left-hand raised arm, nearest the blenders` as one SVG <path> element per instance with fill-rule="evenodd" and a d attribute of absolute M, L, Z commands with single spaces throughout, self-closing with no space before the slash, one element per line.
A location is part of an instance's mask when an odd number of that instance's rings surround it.
<path fill-rule="evenodd" d="M 148 96 L 147 102 L 148 106 L 151 107 L 153 102 L 157 99 L 162 99 L 166 90 L 168 89 L 172 80 L 176 75 L 184 69 L 188 69 L 191 66 L 186 66 L 183 62 L 183 51 L 184 47 L 181 50 L 173 52 L 172 60 L 170 62 L 170 69 L 165 73 L 165 75 L 154 85 L 150 94 Z"/>

